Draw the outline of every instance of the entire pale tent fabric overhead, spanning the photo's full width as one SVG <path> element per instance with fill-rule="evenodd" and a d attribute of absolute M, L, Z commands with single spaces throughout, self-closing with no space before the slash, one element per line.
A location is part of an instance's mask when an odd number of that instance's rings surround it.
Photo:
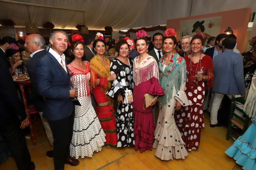
<path fill-rule="evenodd" d="M 12 2 L 12 0 L 6 0 Z M 42 5 L 83 10 L 85 25 L 100 30 L 105 26 L 113 30 L 166 24 L 166 20 L 238 8 L 252 8 L 255 0 L 19 0 Z M 75 28 L 83 24 L 83 12 L 28 6 L 31 23 L 41 27 L 46 21 L 55 27 Z M 0 0 L 0 19 L 11 19 L 17 26 L 29 23 L 26 5 Z M 235 22 L 235 20 L 234 20 Z"/>

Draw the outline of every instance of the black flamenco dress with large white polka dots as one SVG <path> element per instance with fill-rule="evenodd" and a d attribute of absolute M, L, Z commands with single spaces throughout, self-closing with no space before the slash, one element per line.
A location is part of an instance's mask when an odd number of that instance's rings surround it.
<path fill-rule="evenodd" d="M 108 95 L 116 98 L 119 94 L 123 96 L 123 104 L 118 103 L 115 111 L 116 117 L 116 133 L 118 137 L 117 147 L 134 146 L 134 116 L 132 103 L 126 103 L 125 91 L 133 90 L 132 69 L 133 63 L 130 59 L 130 66 L 114 59 L 110 64 L 110 71 L 116 74 L 116 80 L 112 83 L 112 88 L 109 89 Z"/>

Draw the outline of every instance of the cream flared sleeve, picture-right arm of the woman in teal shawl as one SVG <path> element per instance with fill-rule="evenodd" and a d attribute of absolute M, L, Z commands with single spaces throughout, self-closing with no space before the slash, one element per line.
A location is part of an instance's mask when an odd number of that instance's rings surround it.
<path fill-rule="evenodd" d="M 188 106 L 188 98 L 185 93 L 185 88 L 186 88 L 186 80 L 187 80 L 187 74 L 186 74 L 186 63 L 184 62 L 183 67 L 180 68 L 180 78 L 179 78 L 179 91 L 178 93 L 174 96 L 174 98 L 181 104 L 181 106 Z"/>

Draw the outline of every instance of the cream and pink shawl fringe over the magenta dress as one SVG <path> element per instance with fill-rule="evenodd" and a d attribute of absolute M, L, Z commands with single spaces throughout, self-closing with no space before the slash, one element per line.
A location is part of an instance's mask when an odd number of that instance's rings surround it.
<path fill-rule="evenodd" d="M 135 67 L 133 67 L 133 73 L 133 80 L 136 86 L 138 86 L 138 84 L 142 82 L 148 81 L 152 77 L 157 78 L 157 80 L 159 81 L 159 71 L 156 61 L 151 62 L 147 66 L 142 67 L 137 71 Z"/>

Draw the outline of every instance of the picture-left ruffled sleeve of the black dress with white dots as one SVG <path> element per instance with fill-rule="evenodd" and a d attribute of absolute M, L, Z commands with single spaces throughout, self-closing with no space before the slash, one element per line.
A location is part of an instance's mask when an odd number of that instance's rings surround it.
<path fill-rule="evenodd" d="M 123 89 L 126 82 L 121 82 L 119 76 L 119 63 L 117 60 L 113 60 L 110 64 L 110 72 L 114 72 L 117 76 L 117 79 L 113 81 L 111 88 L 106 93 L 111 98 L 118 96 L 119 94 L 125 94 L 125 90 Z"/>

